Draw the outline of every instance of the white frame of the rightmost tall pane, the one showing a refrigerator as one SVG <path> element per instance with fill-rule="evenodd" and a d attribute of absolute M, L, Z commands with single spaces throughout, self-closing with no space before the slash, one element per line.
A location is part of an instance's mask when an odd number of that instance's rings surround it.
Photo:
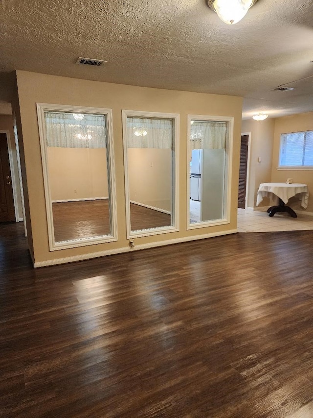
<path fill-rule="evenodd" d="M 191 135 L 191 121 L 204 121 L 204 122 L 228 122 L 229 123 L 229 136 L 226 144 L 227 153 L 227 168 L 225 172 L 225 178 L 227 179 L 227 187 L 224 189 L 224 199 L 226 198 L 226 206 L 224 207 L 224 218 L 215 219 L 212 221 L 202 221 L 190 223 L 190 177 L 189 177 L 189 156 L 191 153 L 190 147 L 190 135 Z M 234 118 L 233 116 L 208 116 L 208 115 L 187 115 L 187 229 L 205 228 L 207 226 L 224 225 L 230 223 L 230 202 L 231 202 L 231 175 L 232 175 L 232 153 L 233 153 L 233 136 L 234 136 Z"/>

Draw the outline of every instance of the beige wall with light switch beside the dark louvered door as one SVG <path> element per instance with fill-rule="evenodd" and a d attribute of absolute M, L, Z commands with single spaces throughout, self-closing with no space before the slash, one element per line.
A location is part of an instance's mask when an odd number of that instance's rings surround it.
<path fill-rule="evenodd" d="M 275 119 L 242 121 L 241 132 L 251 132 L 249 184 L 247 185 L 247 207 L 256 206 L 256 197 L 260 183 L 271 180 L 272 148 L 274 138 Z M 259 162 L 259 158 L 261 162 Z M 269 199 L 264 198 L 261 206 L 268 206 Z"/>

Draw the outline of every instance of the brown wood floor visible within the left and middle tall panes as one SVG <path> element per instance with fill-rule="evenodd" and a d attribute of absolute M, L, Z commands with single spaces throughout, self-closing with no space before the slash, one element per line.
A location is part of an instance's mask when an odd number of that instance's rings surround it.
<path fill-rule="evenodd" d="M 109 200 L 52 203 L 56 242 L 109 235 Z M 131 203 L 132 230 L 172 223 L 171 215 Z"/>

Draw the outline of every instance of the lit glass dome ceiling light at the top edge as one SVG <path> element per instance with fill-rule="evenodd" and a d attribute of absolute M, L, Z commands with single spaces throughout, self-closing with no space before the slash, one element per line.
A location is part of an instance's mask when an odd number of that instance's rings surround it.
<path fill-rule="evenodd" d="M 258 0 L 206 0 L 207 5 L 216 12 L 227 25 L 233 25 L 243 17 Z"/>

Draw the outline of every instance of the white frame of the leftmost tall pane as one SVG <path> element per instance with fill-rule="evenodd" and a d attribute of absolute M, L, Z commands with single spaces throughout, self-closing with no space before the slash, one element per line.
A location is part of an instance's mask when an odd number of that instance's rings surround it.
<path fill-rule="evenodd" d="M 116 213 L 116 187 L 115 187 L 115 169 L 114 169 L 114 148 L 113 148 L 113 129 L 112 129 L 112 110 L 97 107 L 67 106 L 60 104 L 36 103 L 39 139 L 42 156 L 42 166 L 45 187 L 45 207 L 47 215 L 47 228 L 49 239 L 49 250 L 55 251 L 66 248 L 75 248 L 80 246 L 89 246 L 94 244 L 110 243 L 117 241 L 117 213 Z M 89 113 L 93 115 L 103 115 L 107 122 L 107 160 L 108 160 L 108 187 L 110 199 L 110 235 L 101 235 L 98 237 L 80 238 L 76 240 L 67 240 L 55 242 L 54 225 L 52 215 L 51 192 L 49 185 L 48 165 L 47 165 L 47 147 L 45 133 L 45 115 L 44 112 L 69 112 L 69 113 Z"/>

